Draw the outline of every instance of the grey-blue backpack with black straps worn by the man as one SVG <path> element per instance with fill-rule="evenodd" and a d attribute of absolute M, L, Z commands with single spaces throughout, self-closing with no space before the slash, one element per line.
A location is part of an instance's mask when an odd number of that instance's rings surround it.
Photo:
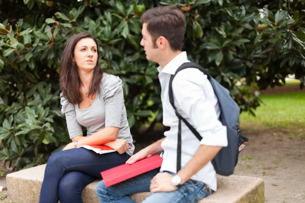
<path fill-rule="evenodd" d="M 234 167 L 238 161 L 238 153 L 247 144 L 248 139 L 241 136 L 239 128 L 239 107 L 229 94 L 229 90 L 213 79 L 208 71 L 194 62 L 187 62 L 178 67 L 175 75 L 189 67 L 199 69 L 203 72 L 210 81 L 214 92 L 218 98 L 219 107 L 221 110 L 220 121 L 227 127 L 228 146 L 223 147 L 218 154 L 211 160 L 217 174 L 229 176 L 233 174 Z M 181 169 L 181 120 L 190 128 L 197 139 L 200 141 L 202 137 L 197 130 L 183 117 L 181 117 L 174 106 L 172 81 L 175 77 L 172 75 L 169 82 L 169 100 L 179 118 L 178 126 L 178 144 L 177 144 L 177 172 Z M 202 134 L 204 136 L 204 134 Z"/>

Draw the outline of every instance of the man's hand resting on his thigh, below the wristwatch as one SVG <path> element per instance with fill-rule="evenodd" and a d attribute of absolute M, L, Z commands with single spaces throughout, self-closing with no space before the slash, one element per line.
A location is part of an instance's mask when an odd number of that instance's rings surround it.
<path fill-rule="evenodd" d="M 169 173 L 158 173 L 150 182 L 150 192 L 171 192 L 178 188 L 170 182 L 173 175 Z"/>

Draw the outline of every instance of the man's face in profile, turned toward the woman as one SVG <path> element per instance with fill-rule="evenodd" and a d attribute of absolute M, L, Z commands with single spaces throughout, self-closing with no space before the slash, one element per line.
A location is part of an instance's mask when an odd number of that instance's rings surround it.
<path fill-rule="evenodd" d="M 158 46 L 155 48 L 153 38 L 147 30 L 147 23 L 143 23 L 142 40 L 140 44 L 144 47 L 146 59 L 158 63 L 158 56 L 160 55 L 160 50 Z"/>

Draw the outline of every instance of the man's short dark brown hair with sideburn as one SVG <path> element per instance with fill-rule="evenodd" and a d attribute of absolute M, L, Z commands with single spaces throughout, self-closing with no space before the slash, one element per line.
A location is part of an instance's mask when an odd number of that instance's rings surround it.
<path fill-rule="evenodd" d="M 174 6 L 156 7 L 147 10 L 141 16 L 141 23 L 147 23 L 147 30 L 156 41 L 165 37 L 173 51 L 180 51 L 186 32 L 186 18 L 182 11 Z"/>

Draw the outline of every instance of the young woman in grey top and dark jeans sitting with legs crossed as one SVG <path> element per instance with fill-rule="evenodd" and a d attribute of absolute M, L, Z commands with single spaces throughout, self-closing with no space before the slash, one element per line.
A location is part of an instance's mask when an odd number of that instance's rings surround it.
<path fill-rule="evenodd" d="M 88 33 L 74 35 L 60 63 L 60 103 L 72 142 L 48 159 L 40 203 L 57 203 L 58 198 L 62 203 L 82 202 L 87 184 L 101 178 L 102 171 L 124 164 L 134 151 L 121 80 L 101 70 L 96 39 Z M 116 152 L 77 148 L 82 145 L 106 145 Z"/>

